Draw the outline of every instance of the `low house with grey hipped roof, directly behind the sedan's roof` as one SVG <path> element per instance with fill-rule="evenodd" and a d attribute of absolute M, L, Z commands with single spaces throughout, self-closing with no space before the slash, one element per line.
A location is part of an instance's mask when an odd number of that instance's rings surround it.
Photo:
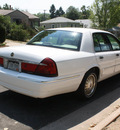
<path fill-rule="evenodd" d="M 40 23 L 41 27 L 48 28 L 60 28 L 60 27 L 80 27 L 79 22 L 65 18 L 56 17 L 50 20 L 46 20 Z"/>

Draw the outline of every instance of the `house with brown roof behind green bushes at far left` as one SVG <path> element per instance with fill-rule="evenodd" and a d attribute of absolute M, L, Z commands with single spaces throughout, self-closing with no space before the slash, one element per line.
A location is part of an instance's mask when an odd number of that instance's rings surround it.
<path fill-rule="evenodd" d="M 0 15 L 10 16 L 11 21 L 17 24 L 26 23 L 32 28 L 40 26 L 40 19 L 25 11 L 0 9 Z"/>

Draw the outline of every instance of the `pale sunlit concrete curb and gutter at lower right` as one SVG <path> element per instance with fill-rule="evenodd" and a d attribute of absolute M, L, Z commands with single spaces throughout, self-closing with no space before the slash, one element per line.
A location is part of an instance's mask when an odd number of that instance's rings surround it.
<path fill-rule="evenodd" d="M 101 130 L 120 116 L 120 98 L 110 106 L 69 130 Z"/>

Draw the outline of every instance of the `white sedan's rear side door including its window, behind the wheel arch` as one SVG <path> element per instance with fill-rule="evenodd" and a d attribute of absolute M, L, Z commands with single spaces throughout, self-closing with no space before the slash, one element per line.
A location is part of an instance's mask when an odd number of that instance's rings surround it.
<path fill-rule="evenodd" d="M 115 54 L 103 33 L 93 34 L 95 56 L 100 67 L 100 78 L 110 77 L 115 71 Z"/>

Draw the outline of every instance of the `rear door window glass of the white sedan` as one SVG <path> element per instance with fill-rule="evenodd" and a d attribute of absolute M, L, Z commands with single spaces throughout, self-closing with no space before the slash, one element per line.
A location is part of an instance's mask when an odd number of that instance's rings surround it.
<path fill-rule="evenodd" d="M 93 41 L 94 41 L 95 52 L 110 51 L 111 50 L 109 43 L 106 42 L 104 36 L 101 33 L 94 33 L 93 34 Z"/>

